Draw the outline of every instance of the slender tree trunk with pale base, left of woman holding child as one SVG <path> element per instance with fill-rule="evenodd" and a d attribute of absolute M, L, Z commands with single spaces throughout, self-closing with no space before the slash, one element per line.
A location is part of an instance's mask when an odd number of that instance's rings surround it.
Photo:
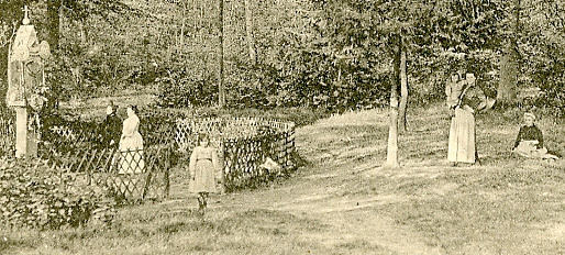
<path fill-rule="evenodd" d="M 398 163 L 398 84 L 400 81 L 401 41 L 395 40 L 395 74 L 390 86 L 390 122 L 388 129 L 387 163 L 385 166 L 397 168 Z"/>

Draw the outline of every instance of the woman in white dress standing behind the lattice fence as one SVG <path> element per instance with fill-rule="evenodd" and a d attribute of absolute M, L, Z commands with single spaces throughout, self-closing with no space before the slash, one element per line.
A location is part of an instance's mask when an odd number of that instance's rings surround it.
<path fill-rule="evenodd" d="M 140 174 L 144 171 L 143 138 L 139 132 L 140 118 L 137 107 L 128 107 L 128 119 L 123 121 L 122 136 L 120 137 L 120 171 L 119 174 Z"/>

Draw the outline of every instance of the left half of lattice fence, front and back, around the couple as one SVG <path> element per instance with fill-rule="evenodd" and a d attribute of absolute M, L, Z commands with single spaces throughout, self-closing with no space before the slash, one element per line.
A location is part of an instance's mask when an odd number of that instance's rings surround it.
<path fill-rule="evenodd" d="M 147 123 L 143 131 L 152 135 L 144 136 L 145 149 L 120 152 L 117 144 L 113 147 L 101 144 L 97 123 L 58 121 L 44 129 L 38 154 L 56 167 L 85 175 L 88 184 L 107 186 L 119 197 L 163 199 L 168 197 L 174 158 L 173 143 L 167 144 L 165 134 L 173 135 L 167 129 L 166 122 Z M 122 165 L 134 167 L 121 170 Z"/>

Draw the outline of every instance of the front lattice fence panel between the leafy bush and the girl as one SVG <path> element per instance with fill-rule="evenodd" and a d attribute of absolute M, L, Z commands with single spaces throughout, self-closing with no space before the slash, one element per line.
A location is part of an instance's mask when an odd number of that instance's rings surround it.
<path fill-rule="evenodd" d="M 142 151 L 77 149 L 47 158 L 54 167 L 81 174 L 87 184 L 106 186 L 125 199 L 164 199 L 169 193 L 170 148 Z"/>

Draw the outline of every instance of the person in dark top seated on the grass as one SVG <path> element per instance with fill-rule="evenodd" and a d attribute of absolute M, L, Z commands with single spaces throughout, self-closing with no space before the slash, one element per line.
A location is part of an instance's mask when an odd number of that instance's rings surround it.
<path fill-rule="evenodd" d="M 524 113 L 524 125 L 520 127 L 512 152 L 528 158 L 557 159 L 543 146 L 543 134 L 534 124 L 535 115 Z"/>

